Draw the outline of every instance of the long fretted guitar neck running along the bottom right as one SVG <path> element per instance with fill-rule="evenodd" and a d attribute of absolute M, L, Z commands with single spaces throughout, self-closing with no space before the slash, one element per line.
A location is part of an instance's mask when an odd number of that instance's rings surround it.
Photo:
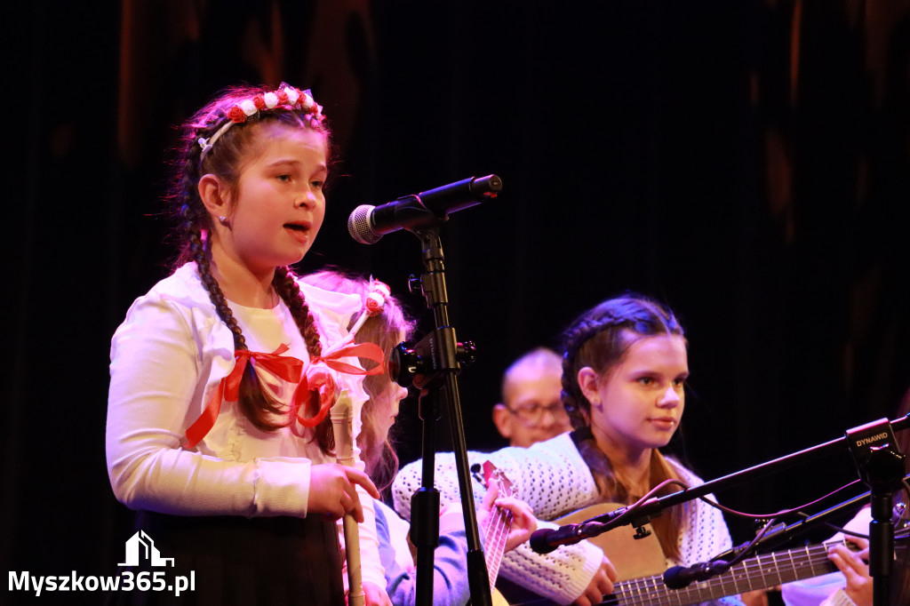
<path fill-rule="evenodd" d="M 660 574 L 620 581 L 613 586 L 611 595 L 604 596 L 602 603 L 610 606 L 625 604 L 684 606 L 816 577 L 837 570 L 828 560 L 830 545 L 831 543 L 810 545 L 798 550 L 766 553 L 735 564 L 729 571 L 713 579 L 694 582 L 678 590 L 667 588 Z"/>

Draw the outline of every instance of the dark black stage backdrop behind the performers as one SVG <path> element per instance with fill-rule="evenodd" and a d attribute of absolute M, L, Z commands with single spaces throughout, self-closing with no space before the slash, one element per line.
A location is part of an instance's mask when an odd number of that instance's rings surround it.
<path fill-rule="evenodd" d="M 688 330 L 674 448 L 705 479 L 889 417 L 910 387 L 907 2 L 44 0 L 25 13 L 7 23 L 7 571 L 98 574 L 123 557 L 129 513 L 104 456 L 110 337 L 167 275 L 173 126 L 238 81 L 311 87 L 335 128 L 328 216 L 301 269 L 371 273 L 424 329 L 407 294 L 417 238 L 359 245 L 350 211 L 501 176 L 501 197 L 443 231 L 451 322 L 479 348 L 460 376 L 470 448 L 501 445 L 490 407 L 511 359 L 626 289 Z M 415 409 L 404 460 L 420 446 Z M 855 478 L 844 453 L 717 496 L 770 512 Z"/>

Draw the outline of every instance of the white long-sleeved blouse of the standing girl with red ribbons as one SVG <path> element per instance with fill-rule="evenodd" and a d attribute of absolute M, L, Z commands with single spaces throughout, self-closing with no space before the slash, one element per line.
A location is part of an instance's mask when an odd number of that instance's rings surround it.
<path fill-rule="evenodd" d="M 361 309 L 360 298 L 299 286 L 323 350 L 339 343 Z M 284 355 L 308 361 L 306 343 L 284 302 L 272 309 L 228 304 L 251 351 L 271 353 L 284 344 L 289 347 Z M 344 361 L 359 367 L 356 358 Z M 117 500 L 131 509 L 176 515 L 307 515 L 310 465 L 334 462 L 308 430 L 304 438 L 290 427 L 262 431 L 236 401 L 224 401 L 207 435 L 187 448 L 187 429 L 234 365 L 233 335 L 218 318 L 194 263 L 136 299 L 111 341 L 106 454 Z M 278 401 L 289 403 L 296 384 L 260 368 L 257 373 Z M 335 373 L 335 379 L 353 401 L 356 438 L 367 399 L 362 377 Z M 373 500 L 359 487 L 358 492 L 368 518 L 360 530 L 363 578 L 384 587 Z"/>

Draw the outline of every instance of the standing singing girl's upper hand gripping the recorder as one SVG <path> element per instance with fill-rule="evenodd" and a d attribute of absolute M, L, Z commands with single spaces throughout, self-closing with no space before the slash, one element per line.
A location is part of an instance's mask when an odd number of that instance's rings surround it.
<path fill-rule="evenodd" d="M 358 484 L 373 499 L 379 499 L 379 490 L 363 471 L 338 463 L 313 465 L 309 469 L 308 513 L 321 513 L 329 520 L 338 520 L 349 513 L 358 523 L 362 522 L 363 507 L 357 496 Z"/>

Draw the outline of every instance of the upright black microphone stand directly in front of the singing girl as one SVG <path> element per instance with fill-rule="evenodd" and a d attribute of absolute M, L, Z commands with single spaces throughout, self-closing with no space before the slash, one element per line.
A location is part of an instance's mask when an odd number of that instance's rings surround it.
<path fill-rule="evenodd" d="M 410 290 L 420 288 L 427 306 L 433 309 L 436 328 L 421 339 L 417 349 L 430 352 L 430 369 L 409 370 L 414 374 L 414 387 L 420 389 L 419 415 L 423 421 L 421 453 L 422 478 L 420 489 L 411 498 L 411 539 L 417 547 L 417 604 L 430 606 L 433 601 L 434 551 L 440 537 L 440 492 L 433 486 L 436 452 L 436 421 L 440 409 L 450 411 L 450 426 L 458 472 L 464 528 L 468 539 L 468 581 L 471 603 L 491 606 L 490 580 L 480 544 L 473 490 L 470 484 L 468 449 L 458 388 L 461 362 L 470 362 L 473 345 L 462 346 L 449 325 L 448 293 L 445 282 L 445 262 L 440 240 L 440 226 L 447 217 L 428 212 L 426 221 L 407 227 L 420 238 L 423 248 L 424 273 L 410 278 Z M 400 347 L 400 346 L 399 346 Z M 467 349 L 467 358 L 466 356 Z M 420 365 L 415 365 L 419 367 Z M 399 381 L 400 383 L 400 381 Z"/>

